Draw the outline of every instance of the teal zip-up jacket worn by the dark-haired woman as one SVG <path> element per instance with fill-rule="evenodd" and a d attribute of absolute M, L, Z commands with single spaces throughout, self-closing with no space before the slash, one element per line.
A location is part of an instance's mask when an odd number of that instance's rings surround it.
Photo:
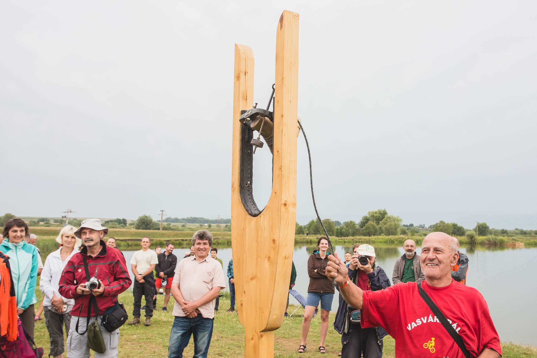
<path fill-rule="evenodd" d="M 0 251 L 9 257 L 11 276 L 17 297 L 17 308 L 25 310 L 37 302 L 37 298 L 35 298 L 38 266 L 37 248 L 24 241 L 13 244 L 9 242 L 9 239 L 4 239 L 0 244 Z"/>

